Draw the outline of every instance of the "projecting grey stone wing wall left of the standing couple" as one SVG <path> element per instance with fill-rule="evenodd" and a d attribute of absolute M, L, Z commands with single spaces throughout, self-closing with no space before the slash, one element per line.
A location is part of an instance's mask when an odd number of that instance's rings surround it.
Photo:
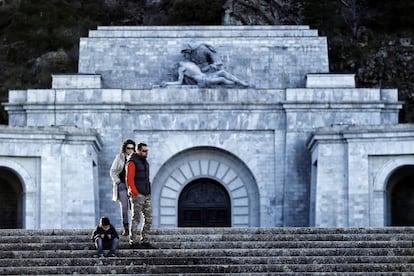
<path fill-rule="evenodd" d="M 0 168 L 21 181 L 24 228 L 84 228 L 97 221 L 101 144 L 95 130 L 2 126 L 0 143 Z"/>

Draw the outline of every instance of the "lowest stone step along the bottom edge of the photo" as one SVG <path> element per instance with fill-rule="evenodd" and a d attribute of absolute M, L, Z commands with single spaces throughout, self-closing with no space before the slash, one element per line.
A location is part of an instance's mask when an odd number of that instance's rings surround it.
<path fill-rule="evenodd" d="M 165 274 L 165 273 L 275 273 L 275 272 L 407 272 L 414 271 L 414 264 L 266 264 L 266 265 L 89 265 L 89 266 L 26 266 L 2 267 L 2 275 L 46 275 L 46 274 Z"/>

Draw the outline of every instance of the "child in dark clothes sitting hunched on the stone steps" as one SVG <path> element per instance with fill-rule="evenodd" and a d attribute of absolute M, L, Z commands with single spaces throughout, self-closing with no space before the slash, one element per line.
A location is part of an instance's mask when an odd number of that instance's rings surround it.
<path fill-rule="evenodd" d="M 107 217 L 101 217 L 99 225 L 92 232 L 91 240 L 95 242 L 99 258 L 104 256 L 104 250 L 109 250 L 107 257 L 115 257 L 119 236 Z"/>

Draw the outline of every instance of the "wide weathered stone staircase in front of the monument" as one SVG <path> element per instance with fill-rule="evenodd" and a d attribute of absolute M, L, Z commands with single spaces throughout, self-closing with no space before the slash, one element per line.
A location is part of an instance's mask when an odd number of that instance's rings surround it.
<path fill-rule="evenodd" d="M 91 230 L 0 230 L 0 275 L 414 275 L 414 227 L 153 229 L 97 258 Z"/>

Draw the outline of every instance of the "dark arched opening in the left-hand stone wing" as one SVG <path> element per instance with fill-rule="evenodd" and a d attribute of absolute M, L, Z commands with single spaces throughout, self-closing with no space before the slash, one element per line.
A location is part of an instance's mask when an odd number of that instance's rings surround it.
<path fill-rule="evenodd" d="M 19 178 L 11 170 L 0 168 L 0 228 L 22 228 L 22 204 L 23 189 Z"/>

